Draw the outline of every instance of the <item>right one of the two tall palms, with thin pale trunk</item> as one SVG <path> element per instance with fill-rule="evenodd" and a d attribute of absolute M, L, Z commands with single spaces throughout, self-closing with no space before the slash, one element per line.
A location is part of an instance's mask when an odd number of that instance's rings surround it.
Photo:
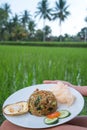
<path fill-rule="evenodd" d="M 53 15 L 53 20 L 59 19 L 60 26 L 60 41 L 61 39 L 61 24 L 65 19 L 70 15 L 70 12 L 67 10 L 69 5 L 67 5 L 66 0 L 58 0 L 55 2 L 55 8 Z"/>

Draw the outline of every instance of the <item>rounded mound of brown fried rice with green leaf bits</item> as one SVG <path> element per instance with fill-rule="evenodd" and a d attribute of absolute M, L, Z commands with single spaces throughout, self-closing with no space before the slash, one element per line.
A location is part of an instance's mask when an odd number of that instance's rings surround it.
<path fill-rule="evenodd" d="M 28 107 L 31 114 L 44 116 L 57 110 L 57 100 L 52 92 L 36 89 L 29 97 Z"/>

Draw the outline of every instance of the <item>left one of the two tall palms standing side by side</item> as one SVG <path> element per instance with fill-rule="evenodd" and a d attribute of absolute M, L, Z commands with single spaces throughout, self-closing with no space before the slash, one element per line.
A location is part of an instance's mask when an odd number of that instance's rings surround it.
<path fill-rule="evenodd" d="M 35 17 L 38 15 L 40 16 L 40 19 L 43 18 L 43 41 L 45 41 L 45 32 L 44 32 L 44 27 L 45 27 L 45 20 L 51 20 L 51 11 L 52 9 L 49 8 L 49 3 L 48 0 L 42 0 L 38 3 L 37 6 L 37 11 L 35 12 Z"/>

